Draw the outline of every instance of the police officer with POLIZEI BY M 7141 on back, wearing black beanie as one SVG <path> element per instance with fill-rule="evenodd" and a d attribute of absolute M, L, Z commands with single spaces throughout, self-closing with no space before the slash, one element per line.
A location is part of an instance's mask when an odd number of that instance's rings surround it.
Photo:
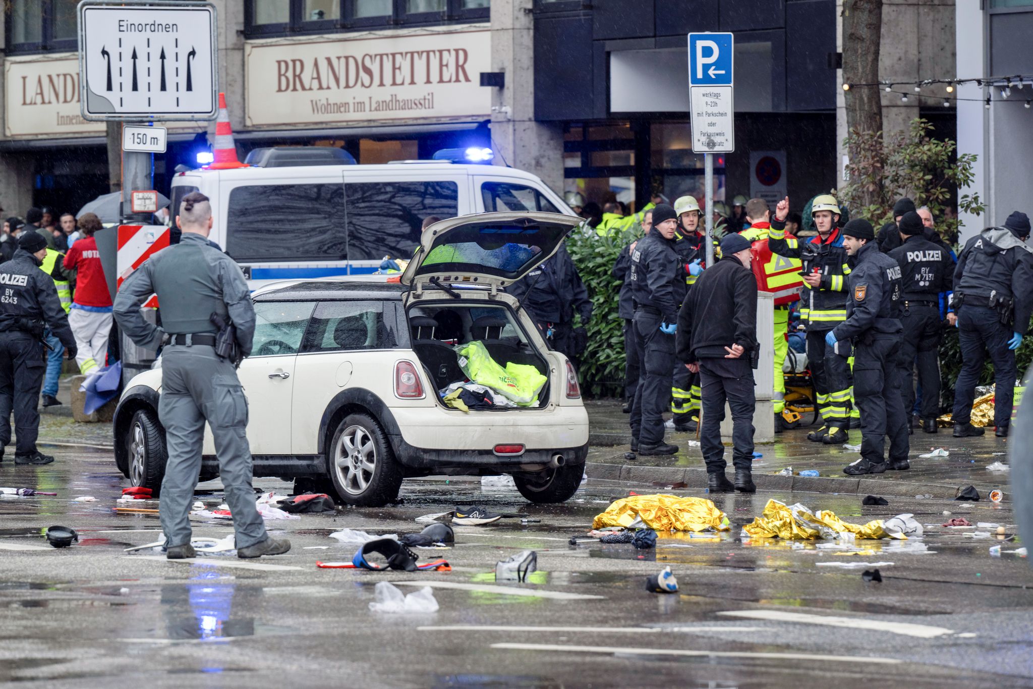
<path fill-rule="evenodd" d="M 918 384 L 921 385 L 921 427 L 936 433 L 940 414 L 939 346 L 943 335 L 940 319 L 940 293 L 953 284 L 954 261 L 939 245 L 925 234 L 921 216 L 905 213 L 898 224 L 903 244 L 886 255 L 901 267 L 904 339 L 898 357 L 901 396 L 904 410 L 914 408 L 912 384 L 915 357 L 918 359 Z M 911 414 L 908 414 L 910 430 Z"/>

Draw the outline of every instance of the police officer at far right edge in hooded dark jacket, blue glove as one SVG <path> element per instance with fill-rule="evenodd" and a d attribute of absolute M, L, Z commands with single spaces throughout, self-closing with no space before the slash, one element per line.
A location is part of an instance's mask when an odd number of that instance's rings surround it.
<path fill-rule="evenodd" d="M 1029 217 L 1015 211 L 1004 227 L 982 230 L 968 241 L 958 256 L 953 306 L 963 363 L 954 384 L 956 438 L 983 434 L 971 420 L 975 386 L 988 352 L 994 364 L 995 435 L 1008 436 L 1015 349 L 1033 314 L 1033 249 L 1026 244 L 1029 236 Z"/>

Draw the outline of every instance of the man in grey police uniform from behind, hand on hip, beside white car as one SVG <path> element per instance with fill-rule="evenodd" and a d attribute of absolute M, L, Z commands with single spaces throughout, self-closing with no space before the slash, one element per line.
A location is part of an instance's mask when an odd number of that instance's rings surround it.
<path fill-rule="evenodd" d="M 200 472 L 208 420 L 219 458 L 219 475 L 233 515 L 237 555 L 280 555 L 290 542 L 271 538 L 255 506 L 251 451 L 245 428 L 248 406 L 233 362 L 216 354 L 212 314 L 231 320 L 244 356 L 251 353 L 255 312 L 244 274 L 208 241 L 212 206 L 194 192 L 180 205 L 179 244 L 152 256 L 130 275 L 115 300 L 119 327 L 142 347 L 164 345 L 158 417 L 165 427 L 168 461 L 161 481 L 161 528 L 169 560 L 192 558 L 188 513 Z M 144 320 L 139 305 L 158 295 L 162 327 Z"/>

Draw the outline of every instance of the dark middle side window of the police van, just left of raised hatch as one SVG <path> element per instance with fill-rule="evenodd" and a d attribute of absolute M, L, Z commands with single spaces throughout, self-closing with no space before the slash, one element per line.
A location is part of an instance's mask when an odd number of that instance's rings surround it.
<path fill-rule="evenodd" d="M 424 218 L 459 215 L 455 182 L 347 182 L 348 260 L 412 258 Z"/>

